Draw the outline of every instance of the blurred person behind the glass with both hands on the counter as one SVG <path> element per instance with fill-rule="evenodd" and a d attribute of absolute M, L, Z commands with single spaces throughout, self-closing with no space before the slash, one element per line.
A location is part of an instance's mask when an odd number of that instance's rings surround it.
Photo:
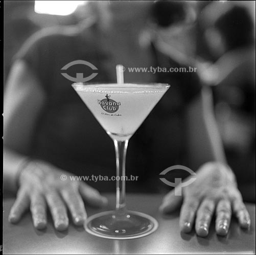
<path fill-rule="evenodd" d="M 184 2 L 169 2 L 169 6 L 163 2 L 89 2 L 91 19 L 77 27 L 40 31 L 20 49 L 4 101 L 4 186 L 17 192 L 10 222 L 18 222 L 30 208 L 35 227 L 44 228 L 49 207 L 56 229 L 62 231 L 68 226 L 67 209 L 75 224 L 83 224 L 82 199 L 85 205 L 106 204 L 95 188 L 109 190 L 108 182 L 88 182 L 89 186 L 60 179 L 62 174 L 111 175 L 115 169 L 111 139 L 61 75 L 61 68 L 86 60 L 98 68 L 92 82 L 115 83 L 115 65 L 120 63 L 126 68 L 184 67 L 161 53 L 152 38 L 143 38 L 152 22 L 160 25 L 152 9 L 169 7 L 169 25 L 185 16 Z M 174 7 L 181 14 L 175 16 Z M 79 72 L 86 77 L 91 70 L 76 66 L 70 72 L 73 77 Z M 195 222 L 202 237 L 208 235 L 214 214 L 219 235 L 227 234 L 232 213 L 248 228 L 250 217 L 225 161 L 211 95 L 202 89 L 196 72 L 125 72 L 125 82 L 171 84 L 130 141 L 127 175 L 139 176 L 139 182 L 130 186 L 132 191 L 159 191 L 158 173 L 183 164 L 197 170 L 197 179 L 182 189 L 182 196 L 170 191 L 161 212 L 182 205 L 181 231 L 190 232 Z"/>

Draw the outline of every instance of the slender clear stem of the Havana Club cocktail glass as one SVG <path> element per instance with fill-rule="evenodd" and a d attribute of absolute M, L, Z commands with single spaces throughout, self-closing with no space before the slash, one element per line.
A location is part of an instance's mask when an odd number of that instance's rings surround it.
<path fill-rule="evenodd" d="M 117 217 L 126 215 L 126 201 L 125 201 L 125 159 L 128 140 L 118 141 L 114 140 L 115 157 L 117 162 L 117 201 L 115 203 L 115 214 Z"/>

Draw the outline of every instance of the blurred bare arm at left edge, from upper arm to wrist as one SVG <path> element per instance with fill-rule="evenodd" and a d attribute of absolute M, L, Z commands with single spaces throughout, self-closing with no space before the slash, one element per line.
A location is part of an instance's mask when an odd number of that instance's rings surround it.
<path fill-rule="evenodd" d="M 4 187 L 16 191 L 16 175 L 30 154 L 32 134 L 46 95 L 36 75 L 21 60 L 14 63 L 4 96 Z"/>

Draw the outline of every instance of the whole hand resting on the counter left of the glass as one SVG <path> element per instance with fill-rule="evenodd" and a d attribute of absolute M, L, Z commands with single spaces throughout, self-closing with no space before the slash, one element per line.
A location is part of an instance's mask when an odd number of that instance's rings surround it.
<path fill-rule="evenodd" d="M 86 219 L 84 202 L 92 206 L 105 206 L 107 198 L 85 184 L 71 181 L 71 173 L 44 162 L 31 161 L 19 175 L 19 189 L 9 214 L 9 221 L 16 223 L 30 208 L 34 226 L 42 229 L 47 224 L 46 209 L 50 209 L 56 230 L 68 226 L 67 208 L 76 225 Z"/>

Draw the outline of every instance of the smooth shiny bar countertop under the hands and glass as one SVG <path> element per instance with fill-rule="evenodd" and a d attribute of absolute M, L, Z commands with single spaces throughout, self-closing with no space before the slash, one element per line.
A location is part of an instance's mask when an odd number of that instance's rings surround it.
<path fill-rule="evenodd" d="M 114 194 L 105 194 L 109 205 L 104 209 L 87 207 L 88 216 L 100 211 L 112 210 Z M 158 212 L 162 195 L 127 194 L 130 210 L 147 213 L 157 219 L 159 227 L 153 234 L 132 240 L 109 240 L 89 235 L 83 227 L 70 224 L 65 232 L 57 232 L 49 217 L 47 228 L 38 231 L 27 213 L 18 224 L 8 222 L 8 214 L 14 198 L 4 199 L 4 254 L 255 254 L 255 205 L 247 203 L 251 216 L 250 230 L 242 230 L 232 219 L 226 237 L 217 236 L 212 223 L 208 237 L 200 238 L 193 231 L 179 231 L 179 212 L 162 216 Z"/>

